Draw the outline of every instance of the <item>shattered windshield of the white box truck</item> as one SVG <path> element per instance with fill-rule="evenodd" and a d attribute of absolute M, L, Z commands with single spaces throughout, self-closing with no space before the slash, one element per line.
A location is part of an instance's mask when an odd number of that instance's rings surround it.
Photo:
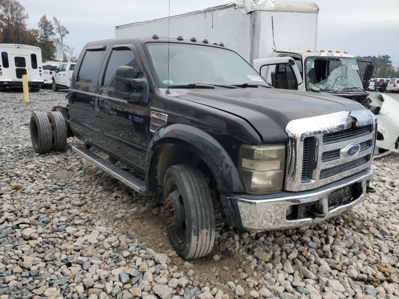
<path fill-rule="evenodd" d="M 363 91 L 358 63 L 354 58 L 306 59 L 306 84 L 307 90 L 314 91 Z"/>

